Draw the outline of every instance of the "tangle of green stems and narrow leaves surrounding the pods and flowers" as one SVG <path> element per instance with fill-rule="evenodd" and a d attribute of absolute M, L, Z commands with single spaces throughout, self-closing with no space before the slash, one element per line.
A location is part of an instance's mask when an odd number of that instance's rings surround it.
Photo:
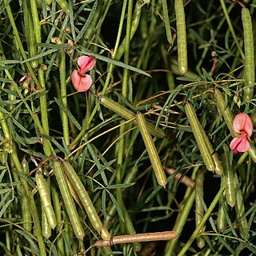
<path fill-rule="evenodd" d="M 215 197 L 222 178 L 205 170 L 184 112 L 190 101 L 219 157 L 231 135 L 216 107 L 213 89 L 222 91 L 234 115 L 247 113 L 255 121 L 254 98 L 249 103 L 242 98 L 242 7 L 224 0 L 185 2 L 189 70 L 182 76 L 174 2 L 167 2 L 167 13 L 162 2 L 1 1 L 1 254 L 83 254 L 99 238 L 79 207 L 86 236 L 83 242 L 75 238 L 54 178 L 52 154 L 74 167 L 112 236 L 179 229 L 174 241 L 113 246 L 113 254 L 181 255 L 184 245 L 191 255 L 256 254 L 254 162 L 247 153 L 229 154 L 238 175 L 236 206 L 241 205 L 241 214 L 226 204 L 225 197 Z M 245 4 L 254 17 L 255 1 Z M 165 130 L 166 138 L 154 138 L 154 142 L 166 170 L 166 189 L 156 182 L 137 126 L 123 124 L 123 118 L 99 105 L 94 94 L 74 90 L 70 74 L 78 56 L 84 54 L 97 60 L 90 71 L 91 92 L 141 111 Z M 26 74 L 31 75 L 30 81 L 21 84 Z M 22 212 L 27 190 L 34 194 L 39 224 L 46 225 L 34 180 L 38 169 L 32 159 L 43 169 L 51 191 L 55 190 L 54 206 L 61 204 L 62 222 L 49 238 L 42 238 L 44 246 L 34 237 L 34 222 L 27 230 Z M 27 172 L 20 165 L 25 162 Z M 174 178 L 181 173 L 194 180 L 197 170 L 204 172 L 205 212 L 212 202 L 216 205 L 206 218 L 202 248 L 196 241 L 187 244 L 196 230 L 194 189 Z M 226 224 L 218 230 L 222 205 Z M 91 248 L 88 254 L 106 255 L 110 250 Z"/>

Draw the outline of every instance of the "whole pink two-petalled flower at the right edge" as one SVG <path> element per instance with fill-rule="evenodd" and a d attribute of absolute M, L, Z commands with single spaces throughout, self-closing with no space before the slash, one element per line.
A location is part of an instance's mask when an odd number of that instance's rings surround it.
<path fill-rule="evenodd" d="M 233 122 L 234 131 L 242 136 L 238 138 L 233 138 L 230 142 L 230 149 L 234 150 L 234 154 L 238 152 L 246 152 L 250 148 L 250 142 L 247 136 L 253 134 L 253 122 L 251 121 L 248 114 L 237 114 Z"/>

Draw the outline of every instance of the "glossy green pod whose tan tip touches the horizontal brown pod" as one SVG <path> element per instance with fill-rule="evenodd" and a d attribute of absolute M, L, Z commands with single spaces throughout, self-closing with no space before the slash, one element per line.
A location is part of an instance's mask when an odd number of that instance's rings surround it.
<path fill-rule="evenodd" d="M 100 218 L 98 217 L 97 211 L 95 210 L 94 205 L 90 200 L 89 194 L 87 193 L 85 187 L 81 182 L 81 179 L 78 177 L 78 174 L 75 172 L 73 166 L 71 166 L 70 163 L 67 161 L 62 161 L 61 165 L 63 167 L 62 169 L 65 171 L 67 177 L 69 178 L 70 183 L 72 184 L 72 186 L 74 186 L 74 190 L 78 194 L 78 197 L 82 202 L 82 206 L 86 210 L 86 214 L 90 219 L 91 225 L 94 227 L 95 230 L 102 234 L 103 239 L 109 240 L 110 234 L 107 232 L 106 229 L 103 230 L 103 225 Z"/>

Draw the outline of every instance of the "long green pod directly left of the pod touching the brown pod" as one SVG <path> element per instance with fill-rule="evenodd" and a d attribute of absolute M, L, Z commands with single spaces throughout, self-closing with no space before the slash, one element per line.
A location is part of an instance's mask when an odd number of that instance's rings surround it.
<path fill-rule="evenodd" d="M 70 189 L 66 183 L 66 177 L 62 169 L 62 165 L 58 161 L 54 161 L 54 175 L 58 182 L 59 190 L 61 191 L 63 202 L 66 206 L 66 212 L 70 218 L 74 234 L 78 239 L 83 239 L 85 236 L 85 231 L 82 228 L 82 224 L 79 219 L 78 211 L 74 205 Z"/>

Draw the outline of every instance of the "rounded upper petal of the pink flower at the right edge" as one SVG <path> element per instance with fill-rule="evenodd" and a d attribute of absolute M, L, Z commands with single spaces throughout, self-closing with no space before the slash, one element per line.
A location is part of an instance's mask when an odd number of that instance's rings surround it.
<path fill-rule="evenodd" d="M 245 132 L 249 137 L 253 134 L 253 122 L 248 114 L 237 114 L 233 122 L 235 132 L 241 134 Z"/>

